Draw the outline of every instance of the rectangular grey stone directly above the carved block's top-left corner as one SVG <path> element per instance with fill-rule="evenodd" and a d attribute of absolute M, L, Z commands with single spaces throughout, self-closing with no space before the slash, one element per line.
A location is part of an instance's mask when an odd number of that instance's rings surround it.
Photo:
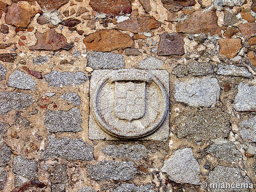
<path fill-rule="evenodd" d="M 116 53 L 89 51 L 87 60 L 87 66 L 93 69 L 121 69 L 125 66 L 124 57 Z"/>

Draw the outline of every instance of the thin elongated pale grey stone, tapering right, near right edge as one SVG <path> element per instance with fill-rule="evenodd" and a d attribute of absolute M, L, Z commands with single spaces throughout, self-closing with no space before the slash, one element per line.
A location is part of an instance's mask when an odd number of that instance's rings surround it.
<path fill-rule="evenodd" d="M 225 76 L 242 76 L 252 78 L 252 74 L 247 70 L 247 68 L 237 67 L 235 65 L 220 64 L 218 65 L 217 74 Z"/>

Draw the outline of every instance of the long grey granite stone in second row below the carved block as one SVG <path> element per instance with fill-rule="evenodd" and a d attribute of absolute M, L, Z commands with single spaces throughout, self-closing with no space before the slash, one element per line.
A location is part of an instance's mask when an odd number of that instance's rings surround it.
<path fill-rule="evenodd" d="M 100 161 L 97 165 L 86 166 L 87 177 L 95 180 L 131 180 L 137 169 L 131 161 Z"/>

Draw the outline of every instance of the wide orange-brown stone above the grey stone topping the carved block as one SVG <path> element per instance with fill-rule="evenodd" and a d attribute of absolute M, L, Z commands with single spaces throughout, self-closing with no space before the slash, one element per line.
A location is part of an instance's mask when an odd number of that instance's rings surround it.
<path fill-rule="evenodd" d="M 132 47 L 134 42 L 132 38 L 117 30 L 107 29 L 99 30 L 85 37 L 84 44 L 89 51 L 113 51 Z"/>

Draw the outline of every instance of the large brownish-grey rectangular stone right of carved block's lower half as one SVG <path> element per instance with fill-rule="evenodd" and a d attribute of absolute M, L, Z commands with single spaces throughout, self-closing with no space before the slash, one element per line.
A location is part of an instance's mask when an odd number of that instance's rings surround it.
<path fill-rule="evenodd" d="M 218 119 L 218 121 L 216 121 Z M 177 137 L 193 140 L 209 140 L 211 138 L 227 138 L 229 134 L 229 116 L 219 109 L 190 108 L 182 111 L 176 118 Z"/>

